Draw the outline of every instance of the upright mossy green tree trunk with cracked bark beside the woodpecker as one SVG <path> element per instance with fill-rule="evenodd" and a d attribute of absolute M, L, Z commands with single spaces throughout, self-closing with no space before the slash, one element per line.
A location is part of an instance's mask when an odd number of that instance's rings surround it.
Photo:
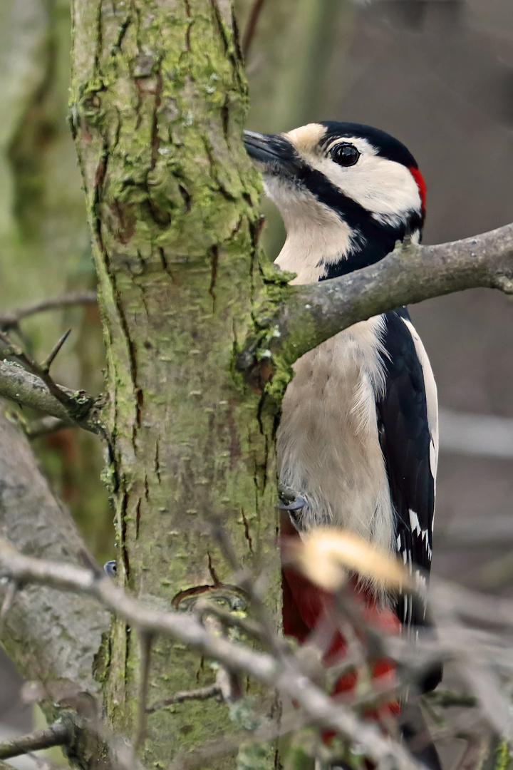
<path fill-rule="evenodd" d="M 229 603 L 232 569 L 210 524 L 220 520 L 238 564 L 266 565 L 275 611 L 276 407 L 234 367 L 261 267 L 231 3 L 75 0 L 73 25 L 71 114 L 107 347 L 120 579 L 148 601 L 185 608 L 181 592 L 210 586 Z M 115 623 L 105 705 L 128 735 L 138 661 L 134 634 Z M 208 661 L 158 640 L 148 700 L 214 676 Z M 156 711 L 143 760 L 167 766 L 231 729 L 215 701 Z"/>

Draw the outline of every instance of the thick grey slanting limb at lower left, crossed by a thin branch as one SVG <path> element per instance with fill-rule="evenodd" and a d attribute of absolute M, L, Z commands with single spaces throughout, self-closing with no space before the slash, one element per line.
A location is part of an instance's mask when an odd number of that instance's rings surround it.
<path fill-rule="evenodd" d="M 0 409 L 0 533 L 18 551 L 58 561 L 82 561 L 86 548 L 72 517 L 55 497 L 28 439 Z M 108 628 L 108 613 L 86 596 L 14 581 L 0 628 L 2 644 L 22 675 L 42 685 L 43 708 L 54 721 L 55 703 L 90 702 L 98 693 L 92 669 Z M 0 583 L 0 603 L 8 586 Z"/>

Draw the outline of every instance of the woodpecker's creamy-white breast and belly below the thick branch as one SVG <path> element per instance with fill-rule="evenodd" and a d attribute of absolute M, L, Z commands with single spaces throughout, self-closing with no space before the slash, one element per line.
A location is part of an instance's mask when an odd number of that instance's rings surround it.
<path fill-rule="evenodd" d="M 395 551 L 375 400 L 384 320 L 351 326 L 294 365 L 278 431 L 280 480 L 307 500 L 301 526 L 331 524 Z"/>

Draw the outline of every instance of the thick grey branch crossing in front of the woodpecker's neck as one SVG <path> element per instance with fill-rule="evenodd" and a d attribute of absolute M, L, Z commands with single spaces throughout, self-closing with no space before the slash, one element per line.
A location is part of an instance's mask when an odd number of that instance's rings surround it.
<path fill-rule="evenodd" d="M 272 276 L 280 283 L 279 273 Z M 275 316 L 246 341 L 238 369 L 265 383 L 272 358 L 294 363 L 353 323 L 395 307 L 479 286 L 513 293 L 513 224 L 438 246 L 398 246 L 375 265 L 307 286 L 287 286 Z M 308 333 L 305 333 L 305 329 Z"/>

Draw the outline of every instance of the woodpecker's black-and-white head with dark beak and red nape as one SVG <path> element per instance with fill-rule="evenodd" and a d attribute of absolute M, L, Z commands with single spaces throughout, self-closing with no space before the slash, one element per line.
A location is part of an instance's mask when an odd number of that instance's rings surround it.
<path fill-rule="evenodd" d="M 334 278 L 420 239 L 425 183 L 411 152 L 357 123 L 309 123 L 284 134 L 245 131 L 248 155 L 287 230 L 276 263 L 292 283 Z"/>

